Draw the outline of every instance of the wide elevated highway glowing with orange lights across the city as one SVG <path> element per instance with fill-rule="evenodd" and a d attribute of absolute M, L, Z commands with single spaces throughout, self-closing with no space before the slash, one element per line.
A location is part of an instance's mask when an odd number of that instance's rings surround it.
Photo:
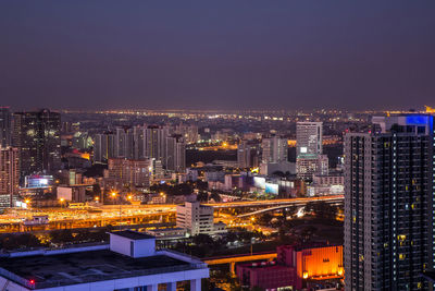
<path fill-rule="evenodd" d="M 310 202 L 343 203 L 343 195 L 301 197 L 270 201 L 244 201 L 207 204 L 216 209 L 225 208 L 269 208 L 274 210 L 285 206 L 301 206 Z M 176 205 L 96 205 L 88 209 L 72 208 L 38 208 L 38 209 L 9 209 L 0 215 L 0 232 L 33 231 L 37 225 L 24 226 L 25 221 L 32 221 L 35 216 L 47 216 L 49 223 L 39 226 L 42 229 L 64 228 L 92 228 L 126 225 L 144 225 L 158 222 L 173 222 L 175 220 Z M 257 210 L 258 213 L 265 211 Z M 257 213 L 256 211 L 256 213 Z M 256 214 L 253 213 L 253 215 Z M 252 214 L 252 213 L 251 213 Z M 249 215 L 251 215 L 249 214 Z M 233 217 L 236 219 L 237 217 Z M 231 221 L 232 218 L 228 218 Z M 227 219 L 224 219 L 227 220 Z"/>

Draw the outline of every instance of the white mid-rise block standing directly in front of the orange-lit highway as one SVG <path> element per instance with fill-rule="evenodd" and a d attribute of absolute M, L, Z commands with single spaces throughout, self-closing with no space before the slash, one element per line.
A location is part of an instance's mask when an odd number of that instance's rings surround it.
<path fill-rule="evenodd" d="M 214 225 L 213 213 L 211 206 L 201 205 L 199 202 L 186 202 L 185 205 L 176 207 L 176 227 L 186 229 L 190 235 L 225 233 L 224 223 Z"/>

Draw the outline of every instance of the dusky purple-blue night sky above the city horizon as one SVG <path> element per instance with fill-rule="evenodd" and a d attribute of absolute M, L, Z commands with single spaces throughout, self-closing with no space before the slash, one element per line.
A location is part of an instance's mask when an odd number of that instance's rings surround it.
<path fill-rule="evenodd" d="M 0 106 L 435 106 L 435 1 L 1 1 Z"/>

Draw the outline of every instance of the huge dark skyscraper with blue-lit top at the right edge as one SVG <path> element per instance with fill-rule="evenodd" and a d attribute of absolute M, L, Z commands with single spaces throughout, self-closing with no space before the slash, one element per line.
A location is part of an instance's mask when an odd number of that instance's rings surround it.
<path fill-rule="evenodd" d="M 434 117 L 374 118 L 345 135 L 347 290 L 427 290 L 434 257 Z"/>

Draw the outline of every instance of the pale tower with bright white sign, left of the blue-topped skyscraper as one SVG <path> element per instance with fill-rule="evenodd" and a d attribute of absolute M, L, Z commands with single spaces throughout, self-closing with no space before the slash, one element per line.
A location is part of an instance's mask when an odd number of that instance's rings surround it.
<path fill-rule="evenodd" d="M 296 124 L 296 155 L 322 155 L 322 122 L 298 122 Z"/>

